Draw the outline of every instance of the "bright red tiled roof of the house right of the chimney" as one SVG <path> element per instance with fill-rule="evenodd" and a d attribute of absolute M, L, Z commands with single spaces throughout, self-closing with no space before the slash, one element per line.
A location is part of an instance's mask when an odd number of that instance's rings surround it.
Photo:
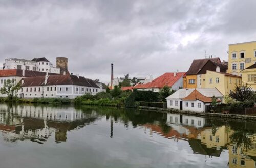
<path fill-rule="evenodd" d="M 163 88 L 165 85 L 167 85 L 168 87 L 172 87 L 174 83 L 182 78 L 185 73 L 186 72 L 178 72 L 176 73 L 176 76 L 174 76 L 174 73 L 165 73 L 154 79 L 152 82 L 138 84 L 133 88 Z"/>

